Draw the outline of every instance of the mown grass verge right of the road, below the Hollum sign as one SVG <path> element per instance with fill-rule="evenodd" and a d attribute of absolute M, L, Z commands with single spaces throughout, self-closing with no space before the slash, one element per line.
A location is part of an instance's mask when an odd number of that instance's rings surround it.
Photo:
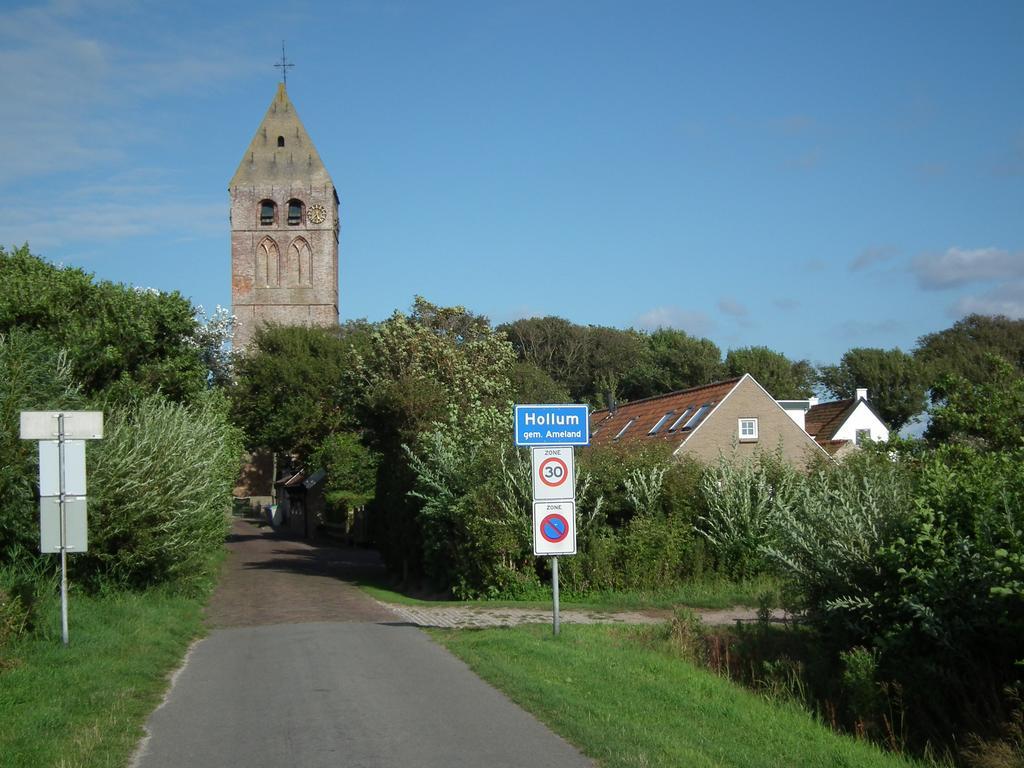
<path fill-rule="evenodd" d="M 651 647 L 635 629 L 566 626 L 431 633 L 605 768 L 916 765 Z"/>

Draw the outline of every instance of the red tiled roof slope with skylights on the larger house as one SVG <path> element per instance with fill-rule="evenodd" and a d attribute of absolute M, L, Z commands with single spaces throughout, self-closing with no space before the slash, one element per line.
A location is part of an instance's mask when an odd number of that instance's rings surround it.
<path fill-rule="evenodd" d="M 693 433 L 692 428 L 683 429 L 683 425 L 690 417 L 701 406 L 710 406 L 714 409 L 738 383 L 739 379 L 730 379 L 729 381 L 707 384 L 702 387 L 634 400 L 620 406 L 614 411 L 594 411 L 590 415 L 591 444 L 608 445 L 636 442 L 642 439 L 666 440 L 682 444 Z M 676 421 L 684 414 L 686 418 L 678 427 L 672 429 Z M 654 425 L 665 417 L 668 419 L 665 420 L 657 432 L 650 434 Z M 707 418 L 707 414 L 705 418 Z M 623 427 L 631 420 L 634 420 L 633 423 L 625 432 L 622 432 Z M 622 436 L 616 439 L 620 432 L 622 432 Z"/>

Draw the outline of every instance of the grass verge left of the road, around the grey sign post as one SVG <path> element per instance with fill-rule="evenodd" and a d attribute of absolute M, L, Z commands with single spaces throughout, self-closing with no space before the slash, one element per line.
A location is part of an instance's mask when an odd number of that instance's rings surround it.
<path fill-rule="evenodd" d="M 121 768 L 160 703 L 169 674 L 202 632 L 204 599 L 165 591 L 72 593 L 39 606 L 35 636 L 3 648 L 0 766 Z"/>

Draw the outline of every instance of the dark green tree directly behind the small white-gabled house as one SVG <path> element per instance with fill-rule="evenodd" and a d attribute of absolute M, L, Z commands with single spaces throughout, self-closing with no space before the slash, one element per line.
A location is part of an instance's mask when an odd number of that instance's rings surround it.
<path fill-rule="evenodd" d="M 822 367 L 818 377 L 842 399 L 853 397 L 858 387 L 866 387 L 871 406 L 893 431 L 899 431 L 928 404 L 924 367 L 900 349 L 855 347 L 838 366 Z"/>

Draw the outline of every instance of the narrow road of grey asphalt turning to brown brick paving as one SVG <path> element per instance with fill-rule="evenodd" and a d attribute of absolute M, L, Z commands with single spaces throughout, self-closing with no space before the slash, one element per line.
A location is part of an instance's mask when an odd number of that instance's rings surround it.
<path fill-rule="evenodd" d="M 368 553 L 237 520 L 209 636 L 151 716 L 136 768 L 591 766 L 352 585 Z"/>

